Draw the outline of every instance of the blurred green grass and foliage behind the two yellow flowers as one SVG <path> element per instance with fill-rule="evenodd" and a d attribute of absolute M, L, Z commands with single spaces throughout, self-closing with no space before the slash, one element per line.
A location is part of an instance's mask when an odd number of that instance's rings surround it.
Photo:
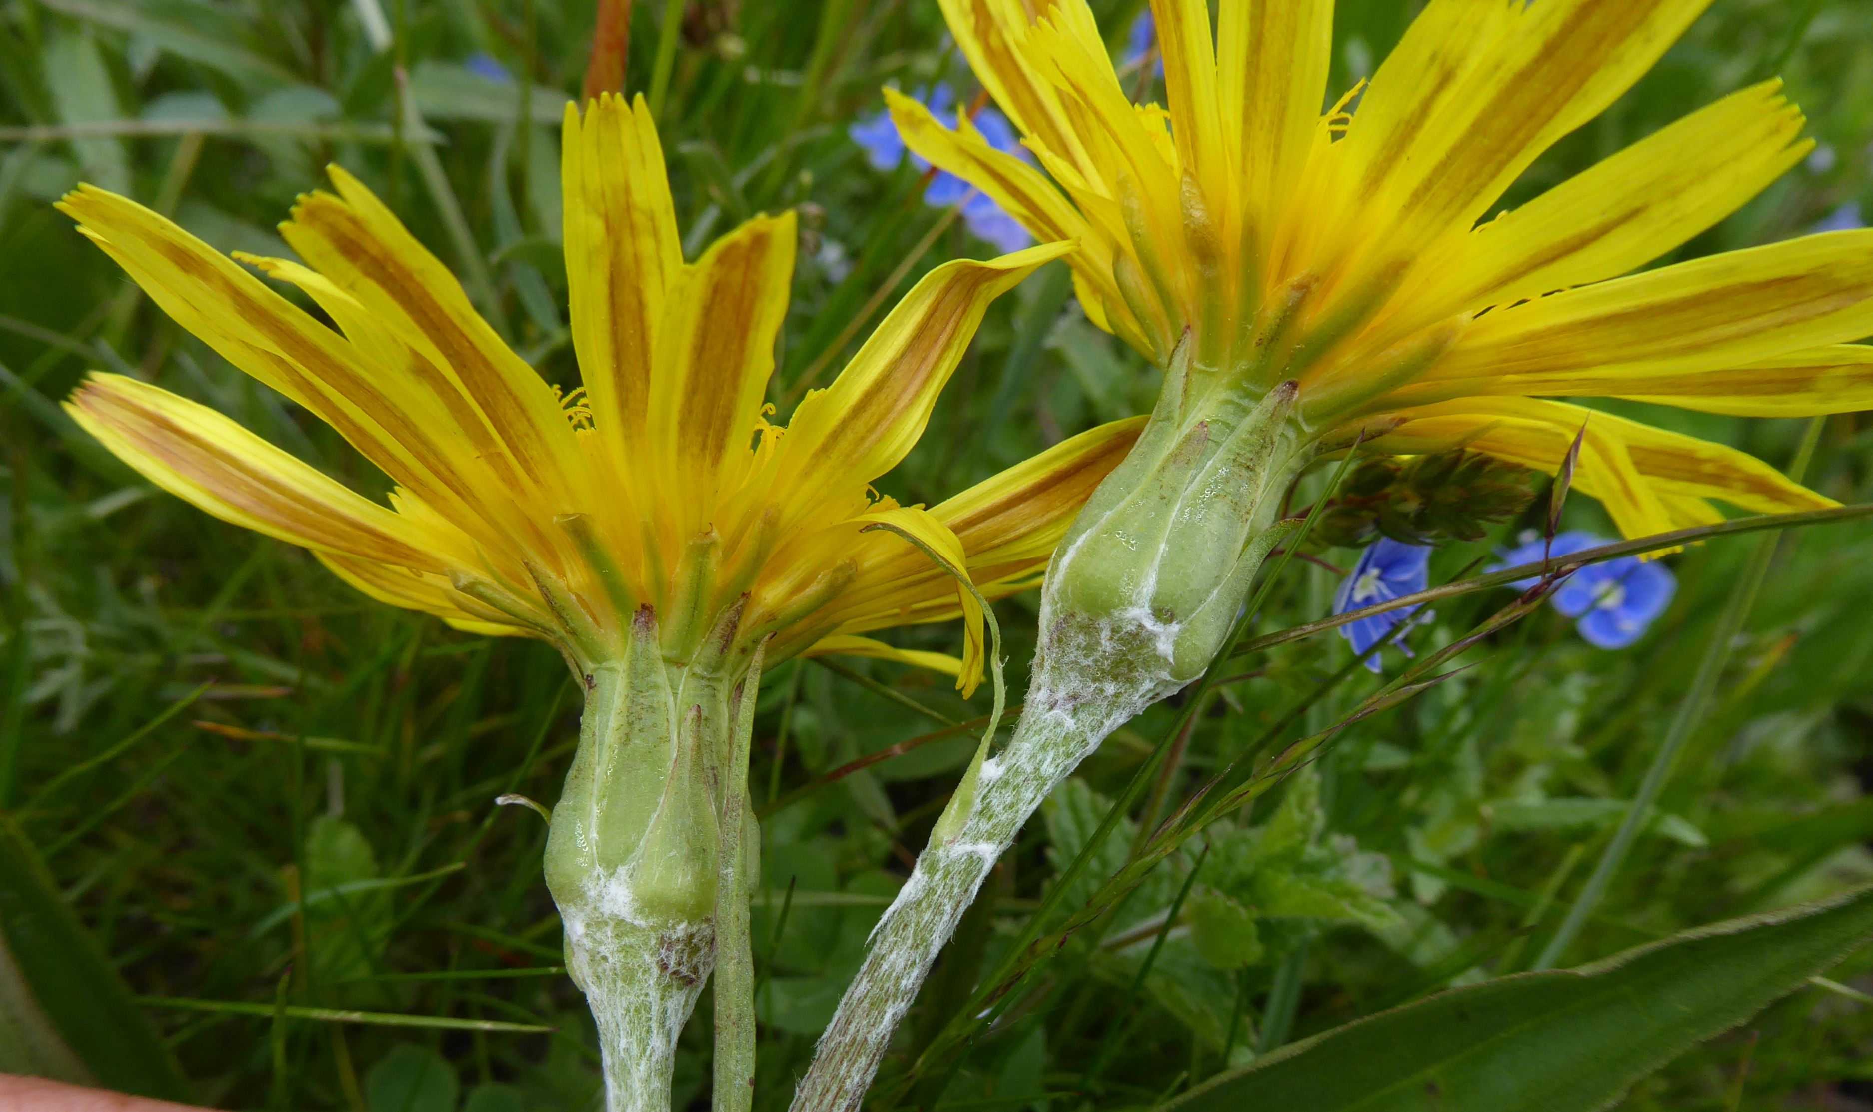
<path fill-rule="evenodd" d="M 564 329 L 556 131 L 594 7 L 0 4 L 0 811 L 96 940 L 92 953 L 140 996 L 99 1003 L 101 1037 L 154 1022 L 191 1099 L 369 1112 L 597 1099 L 590 1022 L 553 970 L 545 824 L 493 805 L 509 790 L 556 797 L 577 695 L 549 648 L 373 605 L 303 552 L 157 494 L 90 444 L 56 401 L 88 369 L 118 369 L 215 404 L 354 485 L 384 487 L 335 434 L 154 311 L 51 200 L 92 180 L 217 247 L 287 255 L 273 221 L 318 185 L 324 163 L 341 163 L 569 389 L 579 373 Z M 1094 7 L 1116 51 L 1143 0 Z M 1341 0 L 1335 92 L 1371 71 L 1412 7 Z M 627 73 L 629 90 L 659 103 L 691 255 L 753 212 L 802 210 L 770 389 L 783 417 L 918 273 L 991 253 L 922 204 L 916 168 L 878 174 L 847 137 L 878 109 L 882 82 L 950 80 L 965 103 L 972 95 L 929 0 L 646 0 L 633 7 Z M 1873 212 L 1864 0 L 1718 0 L 1515 193 L 1777 73 L 1822 146 L 1686 253 L 1791 236 L 1852 217 L 1856 204 Z M 414 112 L 399 110 L 399 90 Z M 1062 290 L 1043 273 L 991 311 L 931 434 L 880 489 L 935 502 L 1148 406 L 1152 374 L 1062 309 Z M 1794 421 L 1648 416 L 1777 466 L 1800 434 Z M 1843 502 L 1873 494 L 1873 425 L 1830 419 L 1809 476 Z M 1491 541 L 1536 524 L 1540 507 Z M 1609 532 L 1583 500 L 1568 524 Z M 1433 580 L 1489 549 L 1442 549 Z M 1644 771 L 1746 550 L 1716 541 L 1674 556 L 1676 601 L 1633 650 L 1594 650 L 1543 608 L 1470 650 L 1461 678 L 1347 730 L 1317 771 L 1186 844 L 1077 936 L 940 1101 L 1150 1105 L 1290 1039 L 1526 968 Z M 1345 549 L 1319 556 L 1356 560 Z M 1290 563 L 1259 627 L 1319 618 L 1335 584 L 1322 565 Z M 1508 599 L 1461 599 L 1408 640 L 1448 644 Z M 1656 822 L 1570 962 L 1873 878 L 1869 608 L 1873 528 L 1785 539 Z M 1015 668 L 1032 616 L 1032 599 L 1002 607 Z M 897 636 L 948 650 L 955 631 Z M 1139 831 L 1204 769 L 1349 659 L 1345 642 L 1322 636 L 1242 661 L 1064 906 L 1122 867 Z M 1334 723 L 1377 683 L 1364 670 L 1339 681 L 1287 738 Z M 770 674 L 753 769 L 753 797 L 768 807 L 757 1106 L 785 1106 L 966 760 L 970 741 L 948 726 L 985 713 L 987 695 L 976 702 L 884 665 Z M 1000 957 L 1176 713 L 1156 708 L 1122 730 L 1030 826 L 907 1022 L 907 1056 Z M 863 756 L 877 760 L 848 771 Z M 1869 966 L 1851 962 L 1836 981 Z M 332 1022 L 317 1009 L 414 1026 Z M 487 1030 L 498 1024 L 553 1030 Z M 1867 1108 L 1869 1050 L 1867 998 L 1807 988 L 1643 1082 L 1624 1106 Z M 678 1065 L 689 1099 L 706 1099 L 706 1056 L 699 1015 Z M 938 1099 L 927 1082 L 918 1095 Z"/>

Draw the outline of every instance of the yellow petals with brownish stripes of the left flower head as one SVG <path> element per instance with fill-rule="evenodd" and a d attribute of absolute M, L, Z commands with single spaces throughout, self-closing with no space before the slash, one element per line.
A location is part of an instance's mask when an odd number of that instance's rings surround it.
<path fill-rule="evenodd" d="M 936 653 L 858 636 L 968 618 L 959 687 L 981 674 L 974 595 L 878 522 L 920 537 L 989 597 L 1030 584 L 1137 423 L 1068 440 L 931 509 L 869 483 L 916 444 L 987 303 L 1068 245 L 931 271 L 787 429 L 762 395 L 787 313 L 794 215 L 755 217 L 684 262 L 663 152 L 639 101 L 564 131 L 566 262 L 583 391 L 558 391 L 474 313 L 450 271 L 356 178 L 300 198 L 303 262 L 251 258 L 328 328 L 157 213 L 81 187 L 60 208 L 184 328 L 335 427 L 397 489 L 348 490 L 229 417 L 94 374 L 71 416 L 159 487 L 311 549 L 341 578 L 455 627 L 539 636 L 581 666 L 650 618 L 671 661 L 712 629 L 768 661 Z"/>

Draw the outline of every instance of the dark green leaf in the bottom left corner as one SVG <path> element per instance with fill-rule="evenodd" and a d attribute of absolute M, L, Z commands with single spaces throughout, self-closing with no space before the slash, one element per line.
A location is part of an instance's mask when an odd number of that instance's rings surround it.
<path fill-rule="evenodd" d="M 148 1017 L 11 822 L 0 824 L 0 944 L 21 990 L 21 998 L 0 994 L 0 1009 L 37 1054 L 54 1056 L 39 1061 L 56 1067 L 54 1046 L 64 1046 L 105 1088 L 191 1099 Z M 56 1069 L 45 1073 L 58 1076 Z"/>

